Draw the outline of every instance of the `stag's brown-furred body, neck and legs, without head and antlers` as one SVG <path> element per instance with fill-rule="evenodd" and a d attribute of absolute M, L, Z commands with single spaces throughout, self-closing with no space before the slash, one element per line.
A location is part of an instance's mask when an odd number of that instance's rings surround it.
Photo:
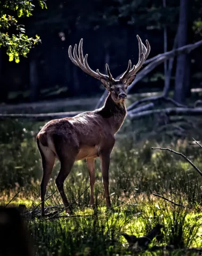
<path fill-rule="evenodd" d="M 120 88 L 119 90 L 124 90 Z M 61 170 L 56 185 L 62 196 L 65 207 L 71 210 L 63 189 L 65 178 L 71 171 L 74 161 L 87 159 L 91 196 L 90 205 L 94 205 L 95 169 L 94 159 L 100 157 L 105 187 L 107 206 L 111 206 L 108 191 L 108 167 L 110 154 L 114 146 L 114 134 L 119 131 L 127 114 L 124 101 L 115 102 L 116 91 L 110 92 L 102 108 L 85 112 L 75 117 L 55 119 L 41 129 L 37 135 L 37 145 L 43 163 L 43 179 L 41 181 L 41 202 L 45 199 L 46 186 L 51 175 L 55 157 L 61 162 Z M 106 160 L 104 161 L 104 159 Z M 67 168 L 65 166 L 68 166 Z M 44 215 L 44 202 L 41 204 Z"/>

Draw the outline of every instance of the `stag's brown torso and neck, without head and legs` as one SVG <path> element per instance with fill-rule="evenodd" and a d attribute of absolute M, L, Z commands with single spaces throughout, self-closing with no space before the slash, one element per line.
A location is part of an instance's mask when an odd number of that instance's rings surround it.
<path fill-rule="evenodd" d="M 75 161 L 99 157 L 99 150 L 105 147 L 120 129 L 127 114 L 125 104 L 115 104 L 109 93 L 105 105 L 95 111 L 49 121 L 38 133 L 38 140 L 44 154 L 51 150 L 60 159 L 55 148 L 56 137 L 62 137 L 66 145 L 78 147 Z M 61 145 L 62 146 L 62 145 Z M 60 153 L 59 153 L 60 155 Z"/>

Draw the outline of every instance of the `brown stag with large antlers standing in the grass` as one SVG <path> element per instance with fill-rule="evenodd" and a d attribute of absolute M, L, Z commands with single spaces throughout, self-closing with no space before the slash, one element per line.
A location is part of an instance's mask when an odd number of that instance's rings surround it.
<path fill-rule="evenodd" d="M 129 60 L 125 73 L 115 80 L 108 65 L 106 64 L 107 75 L 93 71 L 87 62 L 88 54 L 83 58 L 81 39 L 79 43 L 79 56 L 77 44 L 74 46 L 73 57 L 72 47 L 69 47 L 69 57 L 74 65 L 80 67 L 84 72 L 100 80 L 106 88 L 108 97 L 102 108 L 85 112 L 74 117 L 66 117 L 49 121 L 37 135 L 37 145 L 40 151 L 43 164 L 43 179 L 41 181 L 41 215 L 44 216 L 44 199 L 46 187 L 50 178 L 55 158 L 61 162 L 61 169 L 55 180 L 56 186 L 62 197 L 66 212 L 71 212 L 68 199 L 65 196 L 63 184 L 68 177 L 75 161 L 87 159 L 87 166 L 90 180 L 90 206 L 94 205 L 94 183 L 95 183 L 95 158 L 99 157 L 102 166 L 103 185 L 105 190 L 106 205 L 111 207 L 109 194 L 108 169 L 110 166 L 110 155 L 114 147 L 114 134 L 119 131 L 127 115 L 125 99 L 127 98 L 127 87 L 133 82 L 137 71 L 142 67 L 150 52 L 150 45 L 147 47 L 139 42 L 139 61 L 131 68 Z"/>

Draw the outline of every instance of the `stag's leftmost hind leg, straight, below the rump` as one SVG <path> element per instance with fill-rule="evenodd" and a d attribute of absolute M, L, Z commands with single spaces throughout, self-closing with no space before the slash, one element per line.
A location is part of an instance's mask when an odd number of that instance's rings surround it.
<path fill-rule="evenodd" d="M 40 190 L 41 190 L 41 217 L 44 217 L 45 216 L 44 200 L 45 200 L 45 194 L 46 194 L 46 187 L 55 163 L 55 153 L 51 149 L 41 146 L 39 142 L 37 142 L 37 144 L 38 144 L 38 149 L 41 155 L 42 166 L 43 166 L 43 178 L 41 180 Z"/>

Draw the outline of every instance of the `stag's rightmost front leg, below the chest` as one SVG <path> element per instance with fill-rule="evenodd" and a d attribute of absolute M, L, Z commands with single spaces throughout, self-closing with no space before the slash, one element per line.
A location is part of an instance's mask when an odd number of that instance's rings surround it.
<path fill-rule="evenodd" d="M 111 201 L 110 201 L 110 192 L 109 192 L 109 176 L 108 171 L 110 167 L 110 154 L 103 154 L 100 156 L 101 161 L 101 169 L 103 175 L 103 185 L 105 190 L 105 198 L 106 198 L 106 205 L 107 208 L 111 208 Z"/>

